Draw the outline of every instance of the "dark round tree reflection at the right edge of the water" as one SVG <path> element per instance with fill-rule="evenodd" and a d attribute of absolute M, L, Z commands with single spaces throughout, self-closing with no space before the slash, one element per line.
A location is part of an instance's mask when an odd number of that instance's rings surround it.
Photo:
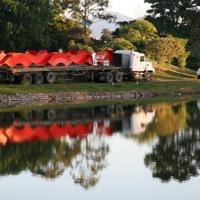
<path fill-rule="evenodd" d="M 164 182 L 171 179 L 187 181 L 200 172 L 200 124 L 199 118 L 198 123 L 196 118 L 199 111 L 194 104 L 188 104 L 187 110 L 190 113 L 188 128 L 168 137 L 159 136 L 152 152 L 145 156 L 145 165 L 151 168 L 153 177 Z M 173 125 L 176 126 L 175 123 Z"/>

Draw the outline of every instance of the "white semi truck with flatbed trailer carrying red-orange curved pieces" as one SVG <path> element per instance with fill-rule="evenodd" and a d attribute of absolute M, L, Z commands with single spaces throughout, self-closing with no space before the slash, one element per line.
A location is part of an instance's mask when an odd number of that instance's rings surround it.
<path fill-rule="evenodd" d="M 128 50 L 0 52 L 0 81 L 11 83 L 54 84 L 60 77 L 106 83 L 150 81 L 154 72 L 144 54 Z"/>

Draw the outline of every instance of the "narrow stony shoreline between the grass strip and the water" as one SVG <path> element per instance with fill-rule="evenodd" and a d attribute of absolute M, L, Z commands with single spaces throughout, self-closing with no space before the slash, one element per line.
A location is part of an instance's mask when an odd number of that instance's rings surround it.
<path fill-rule="evenodd" d="M 137 100 L 159 97 L 180 97 L 200 95 L 200 90 L 174 91 L 158 93 L 152 91 L 121 91 L 121 92 L 64 92 L 64 93 L 16 93 L 0 94 L 1 106 L 45 105 L 45 104 L 79 104 L 84 102 Z"/>

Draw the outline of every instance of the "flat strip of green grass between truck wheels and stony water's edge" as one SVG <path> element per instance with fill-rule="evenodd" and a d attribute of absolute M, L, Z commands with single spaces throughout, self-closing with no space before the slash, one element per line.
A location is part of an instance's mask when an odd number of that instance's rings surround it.
<path fill-rule="evenodd" d="M 55 85 L 0 85 L 0 93 L 61 93 L 61 92 L 119 92 L 119 91 L 150 91 L 159 94 L 169 92 L 199 91 L 200 81 L 153 81 L 153 82 L 124 82 L 106 83 L 67 83 Z"/>

